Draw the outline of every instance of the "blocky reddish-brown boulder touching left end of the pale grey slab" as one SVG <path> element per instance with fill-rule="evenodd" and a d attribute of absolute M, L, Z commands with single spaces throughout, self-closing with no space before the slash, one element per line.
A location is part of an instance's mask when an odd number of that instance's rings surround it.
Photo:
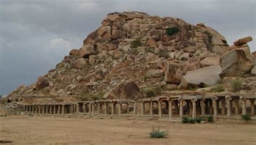
<path fill-rule="evenodd" d="M 185 64 L 179 61 L 171 61 L 167 64 L 164 80 L 169 83 L 179 84 L 185 74 Z"/>

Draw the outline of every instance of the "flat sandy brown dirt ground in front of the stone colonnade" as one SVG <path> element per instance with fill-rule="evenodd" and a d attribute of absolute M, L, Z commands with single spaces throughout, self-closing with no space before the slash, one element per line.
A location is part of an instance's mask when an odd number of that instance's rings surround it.
<path fill-rule="evenodd" d="M 4 144 L 256 144 L 255 125 L 228 123 L 6 116 L 0 127 L 0 141 L 12 141 Z M 152 127 L 169 136 L 151 139 Z"/>

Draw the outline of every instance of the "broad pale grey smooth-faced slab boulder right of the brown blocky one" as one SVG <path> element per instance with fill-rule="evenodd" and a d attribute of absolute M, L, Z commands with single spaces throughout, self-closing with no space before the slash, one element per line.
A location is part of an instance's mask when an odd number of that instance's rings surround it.
<path fill-rule="evenodd" d="M 205 84 L 207 86 L 216 85 L 220 79 L 222 68 L 220 65 L 212 65 L 204 68 L 200 68 L 194 71 L 188 71 L 184 75 L 180 82 L 181 88 L 187 88 L 188 86 L 199 86 Z"/>

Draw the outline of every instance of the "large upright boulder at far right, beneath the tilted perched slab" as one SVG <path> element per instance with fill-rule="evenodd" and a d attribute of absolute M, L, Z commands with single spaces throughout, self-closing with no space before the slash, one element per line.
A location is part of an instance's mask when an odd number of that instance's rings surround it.
<path fill-rule="evenodd" d="M 239 47 L 226 52 L 220 58 L 220 65 L 226 77 L 233 77 L 249 72 L 253 68 L 249 47 Z"/>

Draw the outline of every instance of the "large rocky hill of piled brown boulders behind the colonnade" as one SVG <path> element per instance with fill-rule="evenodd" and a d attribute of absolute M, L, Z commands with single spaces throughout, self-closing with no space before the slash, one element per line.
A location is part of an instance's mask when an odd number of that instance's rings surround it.
<path fill-rule="evenodd" d="M 251 40 L 242 38 L 229 46 L 224 36 L 203 23 L 144 12 L 109 13 L 82 47 L 9 97 L 133 99 L 187 89 L 211 92 L 220 81 L 228 91 L 230 77 L 237 76 L 250 87 L 245 93 L 255 93 L 251 73 L 256 71 L 256 54 L 246 44 Z"/>

